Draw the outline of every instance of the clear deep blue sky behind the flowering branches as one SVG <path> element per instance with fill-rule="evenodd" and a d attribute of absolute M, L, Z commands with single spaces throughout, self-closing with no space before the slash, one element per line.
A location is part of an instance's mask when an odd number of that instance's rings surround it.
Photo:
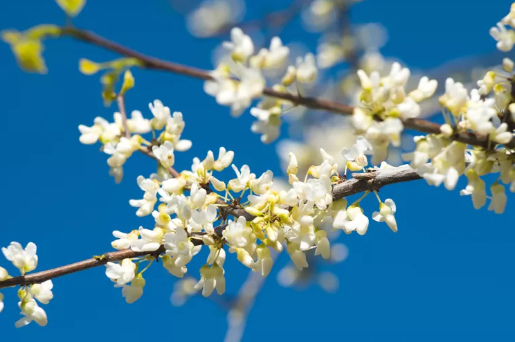
<path fill-rule="evenodd" d="M 289 1 L 249 1 L 251 16 Z M 473 6 L 465 0 L 365 0 L 356 6 L 356 22 L 379 21 L 388 28 L 385 55 L 409 66 L 432 68 L 450 58 L 489 53 L 490 26 L 509 10 L 510 1 Z M 0 28 L 26 29 L 41 23 L 62 23 L 53 1 L 4 1 Z M 89 1 L 76 20 L 83 28 L 165 59 L 209 69 L 215 39 L 196 40 L 183 18 L 165 0 Z M 284 42 L 299 37 L 299 23 L 284 30 Z M 300 34 L 302 35 L 302 34 Z M 311 49 L 314 36 L 305 35 Z M 107 175 L 98 147 L 80 145 L 77 126 L 95 116 L 111 118 L 100 99 L 97 76 L 78 71 L 78 59 L 109 60 L 114 55 L 68 39 L 48 42 L 49 75 L 20 71 L 6 44 L 0 45 L 0 134 L 3 180 L 0 246 L 10 241 L 38 246 L 39 267 L 90 258 L 109 251 L 111 231 L 130 231 L 151 220 L 138 219 L 130 198 L 141 197 L 138 174 L 154 164 L 135 156 L 120 186 Z M 148 114 L 147 103 L 159 98 L 183 111 L 190 152 L 177 154 L 177 169 L 189 168 L 193 156 L 205 156 L 219 145 L 234 150 L 235 163 L 247 163 L 256 174 L 271 168 L 280 173 L 273 145 L 250 134 L 252 118 L 235 120 L 202 91 L 198 80 L 152 71 L 134 71 L 136 89 L 129 110 Z M 266 162 L 264 162 L 266 161 Z M 275 274 L 258 298 L 245 341 L 514 341 L 515 249 L 514 198 L 505 215 L 473 210 L 458 190 L 430 188 L 422 181 L 381 190 L 397 202 L 399 233 L 372 223 L 364 237 L 341 237 L 350 249 L 347 261 L 332 267 L 340 279 L 336 294 L 319 287 L 284 289 Z M 372 199 L 370 200 L 372 203 Z M 374 204 L 375 206 L 375 204 Z M 284 255 L 278 262 L 284 264 Z M 200 262 L 198 262 L 200 264 Z M 6 260 L 0 258 L 6 266 Z M 198 274 L 198 265 L 190 271 Z M 12 271 L 12 268 L 9 268 Z M 279 267 L 275 267 L 277 271 Z M 193 298 L 172 307 L 174 279 L 161 267 L 145 277 L 141 300 L 127 305 L 104 268 L 55 280 L 55 298 L 45 309 L 48 326 L 35 323 L 15 330 L 18 319 L 14 289 L 2 290 L 6 308 L 0 314 L 2 341 L 114 341 L 212 339 L 220 341 L 226 314 L 210 300 Z M 228 264 L 228 291 L 246 276 L 237 262 Z"/>

